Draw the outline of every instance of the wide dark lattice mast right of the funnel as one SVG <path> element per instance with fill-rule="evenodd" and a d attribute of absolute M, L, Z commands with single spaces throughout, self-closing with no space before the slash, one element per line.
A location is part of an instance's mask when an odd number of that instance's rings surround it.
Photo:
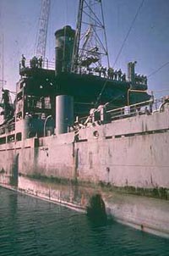
<path fill-rule="evenodd" d="M 101 0 L 79 0 L 72 72 L 109 65 Z"/>

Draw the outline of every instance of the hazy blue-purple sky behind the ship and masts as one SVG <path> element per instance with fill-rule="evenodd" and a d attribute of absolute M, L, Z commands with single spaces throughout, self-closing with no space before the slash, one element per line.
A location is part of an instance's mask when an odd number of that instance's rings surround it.
<path fill-rule="evenodd" d="M 54 61 L 54 33 L 64 25 L 75 28 L 79 1 L 51 1 L 46 57 Z M 111 66 L 142 1 L 102 0 Z M 34 55 L 40 12 L 41 0 L 0 0 L 0 80 L 4 70 L 5 87 L 10 91 L 15 91 L 19 81 L 21 55 L 27 59 Z M 169 95 L 169 0 L 144 0 L 114 68 L 127 73 L 128 62 L 135 60 L 136 73 L 148 76 L 149 91 L 155 97 Z M 151 75 L 155 70 L 159 71 Z"/>

